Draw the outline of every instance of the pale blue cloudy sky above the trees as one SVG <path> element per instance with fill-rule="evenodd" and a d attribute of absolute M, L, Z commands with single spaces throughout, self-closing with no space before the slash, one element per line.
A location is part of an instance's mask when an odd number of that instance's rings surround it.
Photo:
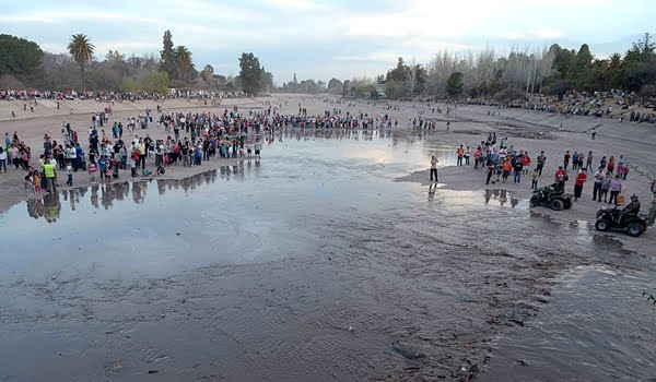
<path fill-rule="evenodd" d="M 540 49 L 558 43 L 593 55 L 624 52 L 656 33 L 653 0 L 0 0 L 0 33 L 65 52 L 86 34 L 107 50 L 159 53 L 169 29 L 197 69 L 238 74 L 251 51 L 279 85 L 304 79 L 384 74 L 398 57 L 426 63 L 437 51 L 485 46 Z"/>

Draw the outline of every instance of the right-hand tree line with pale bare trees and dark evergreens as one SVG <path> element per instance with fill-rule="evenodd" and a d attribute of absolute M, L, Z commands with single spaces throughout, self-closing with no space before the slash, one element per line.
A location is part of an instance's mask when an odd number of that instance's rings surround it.
<path fill-rule="evenodd" d="M 512 100 L 528 94 L 548 94 L 561 99 L 569 91 L 635 92 L 656 98 L 656 49 L 652 36 L 632 45 L 624 53 L 596 59 L 587 44 L 569 50 L 558 44 L 529 51 L 513 49 L 499 56 L 485 48 L 477 55 L 443 51 L 426 64 L 414 59 L 397 65 L 376 81 L 387 98 L 496 97 Z"/>

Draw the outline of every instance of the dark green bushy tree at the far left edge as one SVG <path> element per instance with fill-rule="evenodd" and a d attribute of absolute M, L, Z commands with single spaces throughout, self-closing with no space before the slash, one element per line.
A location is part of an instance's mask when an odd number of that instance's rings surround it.
<path fill-rule="evenodd" d="M 44 52 L 36 43 L 0 35 L 0 75 L 34 75 L 38 73 L 43 58 Z"/>

